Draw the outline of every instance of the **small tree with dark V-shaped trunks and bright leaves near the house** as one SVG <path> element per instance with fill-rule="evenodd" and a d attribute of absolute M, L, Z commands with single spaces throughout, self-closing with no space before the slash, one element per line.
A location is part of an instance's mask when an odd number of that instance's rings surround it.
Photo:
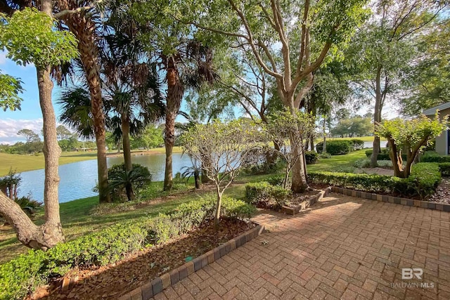
<path fill-rule="evenodd" d="M 375 134 L 387 138 L 390 144 L 390 158 L 394 166 L 394 175 L 400 178 L 408 178 L 411 174 L 411 165 L 422 150 L 432 139 L 439 136 L 448 127 L 449 116 L 439 120 L 439 114 L 435 119 L 420 115 L 416 119 L 393 119 L 383 124 L 375 124 Z M 401 151 L 406 152 L 406 166 L 403 167 Z"/>

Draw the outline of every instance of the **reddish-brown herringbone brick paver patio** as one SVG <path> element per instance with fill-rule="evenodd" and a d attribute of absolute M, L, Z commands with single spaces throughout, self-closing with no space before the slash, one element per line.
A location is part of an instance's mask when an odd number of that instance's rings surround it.
<path fill-rule="evenodd" d="M 257 216 L 268 233 L 155 299 L 450 299 L 449 217 L 331 194 L 297 216 Z"/>

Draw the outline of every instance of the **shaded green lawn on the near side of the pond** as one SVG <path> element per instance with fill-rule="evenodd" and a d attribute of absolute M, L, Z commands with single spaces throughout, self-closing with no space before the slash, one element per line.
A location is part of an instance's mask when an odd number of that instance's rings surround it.
<path fill-rule="evenodd" d="M 366 157 L 366 150 L 359 150 L 348 155 L 337 155 L 329 159 L 320 159 L 316 164 L 308 165 L 309 171 L 330 171 L 339 167 L 352 166 L 354 161 Z M 1 155 L 1 154 L 0 154 Z M 20 155 L 21 156 L 21 155 Z M 242 198 L 245 192 L 244 183 L 264 181 L 269 175 L 241 176 L 236 184 L 226 190 L 226 195 Z M 144 203 L 98 204 L 98 197 L 65 202 L 60 204 L 60 216 L 63 230 L 68 240 L 101 230 L 121 221 L 141 218 L 151 218 L 160 213 L 172 211 L 178 204 L 197 199 L 207 192 L 214 193 L 214 189 L 192 190 L 193 178 L 187 185 L 177 184 L 172 193 L 162 192 L 162 182 L 150 183 L 139 197 Z M 36 223 L 43 222 L 43 211 L 36 218 Z M 20 244 L 14 231 L 9 226 L 0 227 L 0 263 L 8 261 L 18 254 L 27 252 L 27 248 Z"/>

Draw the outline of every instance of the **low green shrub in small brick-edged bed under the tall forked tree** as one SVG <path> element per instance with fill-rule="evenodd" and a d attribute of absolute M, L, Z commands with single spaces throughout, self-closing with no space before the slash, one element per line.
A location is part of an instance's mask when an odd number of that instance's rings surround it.
<path fill-rule="evenodd" d="M 245 202 L 264 207 L 282 207 L 292 197 L 290 190 L 266 181 L 245 185 Z"/>

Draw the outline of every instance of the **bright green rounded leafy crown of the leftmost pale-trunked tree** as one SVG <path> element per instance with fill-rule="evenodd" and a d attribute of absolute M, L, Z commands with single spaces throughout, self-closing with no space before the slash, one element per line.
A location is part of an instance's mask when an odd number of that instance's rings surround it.
<path fill-rule="evenodd" d="M 35 8 L 0 14 L 0 28 L 0 49 L 18 65 L 60 65 L 78 55 L 75 36 L 54 30 L 53 19 Z"/>

